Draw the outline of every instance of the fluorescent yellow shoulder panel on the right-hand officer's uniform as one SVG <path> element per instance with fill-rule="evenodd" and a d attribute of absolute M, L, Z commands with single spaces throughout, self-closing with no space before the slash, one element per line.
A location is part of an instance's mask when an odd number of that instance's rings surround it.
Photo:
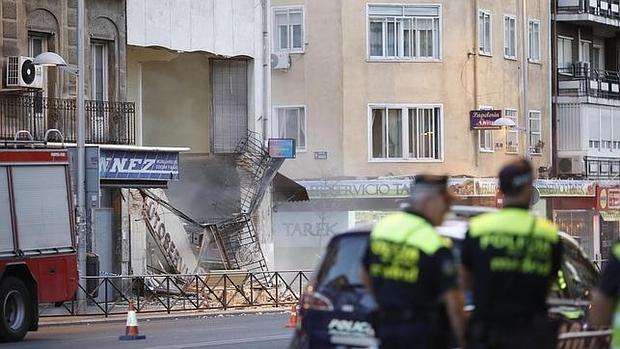
<path fill-rule="evenodd" d="M 504 208 L 499 212 L 486 213 L 471 219 L 469 234 L 480 237 L 492 233 L 510 233 L 513 235 L 530 234 L 532 218 L 529 211 L 521 208 Z M 536 217 L 536 226 L 532 236 L 540 237 L 553 243 L 559 240 L 555 225 L 545 219 Z"/>

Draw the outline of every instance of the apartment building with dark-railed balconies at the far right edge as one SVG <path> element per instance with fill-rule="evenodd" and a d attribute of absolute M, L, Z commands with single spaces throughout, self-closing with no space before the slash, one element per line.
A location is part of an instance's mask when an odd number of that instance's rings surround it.
<path fill-rule="evenodd" d="M 553 98 L 557 174 L 594 180 L 597 195 L 554 206 L 561 228 L 606 260 L 620 206 L 620 3 L 555 0 Z"/>

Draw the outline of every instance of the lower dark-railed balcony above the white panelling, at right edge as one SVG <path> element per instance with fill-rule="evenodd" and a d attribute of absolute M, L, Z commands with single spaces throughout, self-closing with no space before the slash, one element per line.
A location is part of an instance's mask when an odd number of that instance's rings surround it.
<path fill-rule="evenodd" d="M 610 100 L 610 104 L 620 102 L 620 72 L 588 68 L 586 65 L 574 64 L 568 68 L 558 69 L 558 96 L 599 98 Z"/>

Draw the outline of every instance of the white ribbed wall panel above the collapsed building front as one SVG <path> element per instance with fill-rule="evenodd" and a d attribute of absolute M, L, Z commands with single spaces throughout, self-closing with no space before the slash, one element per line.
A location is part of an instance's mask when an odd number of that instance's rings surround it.
<path fill-rule="evenodd" d="M 261 0 L 128 0 L 127 43 L 258 57 Z"/>

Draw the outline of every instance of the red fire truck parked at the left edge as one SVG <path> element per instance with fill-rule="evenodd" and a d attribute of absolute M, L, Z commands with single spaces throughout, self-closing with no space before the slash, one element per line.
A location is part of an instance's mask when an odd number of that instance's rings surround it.
<path fill-rule="evenodd" d="M 36 330 L 39 303 L 73 299 L 74 222 L 67 150 L 0 148 L 0 341 Z"/>

